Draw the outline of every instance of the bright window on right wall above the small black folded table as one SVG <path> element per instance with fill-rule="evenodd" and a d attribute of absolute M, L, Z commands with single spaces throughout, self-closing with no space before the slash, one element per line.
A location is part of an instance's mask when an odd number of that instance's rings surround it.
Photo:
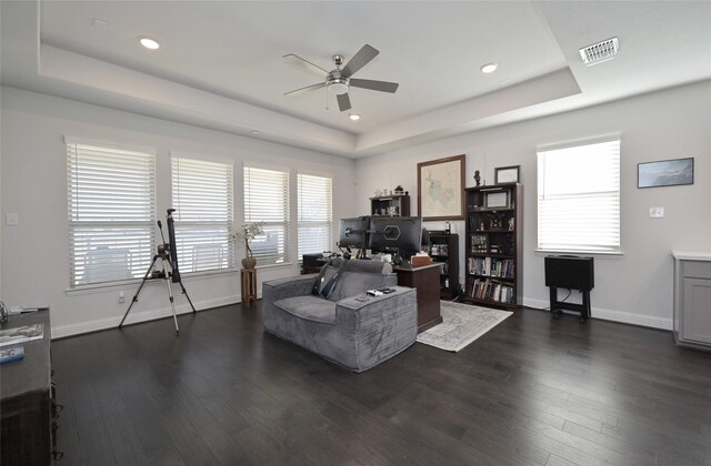
<path fill-rule="evenodd" d="M 538 247 L 620 251 L 620 140 L 538 152 Z"/>

